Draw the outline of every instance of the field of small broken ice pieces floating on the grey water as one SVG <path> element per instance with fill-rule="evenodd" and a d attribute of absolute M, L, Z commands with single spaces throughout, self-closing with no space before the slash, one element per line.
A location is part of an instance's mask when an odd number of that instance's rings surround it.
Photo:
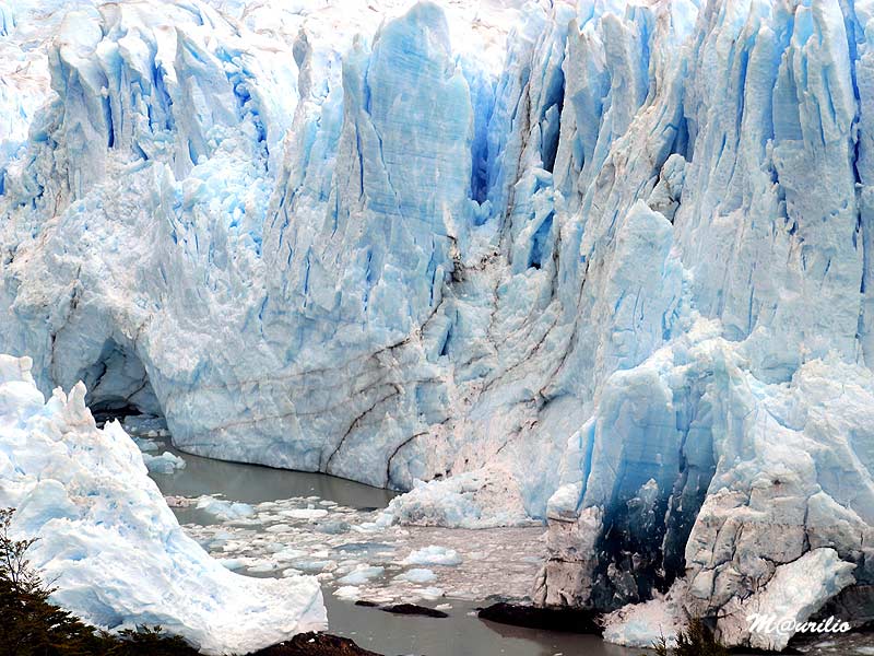
<path fill-rule="evenodd" d="M 200 497 L 199 497 L 200 499 Z M 214 497 L 206 497 L 214 499 Z M 220 500 L 224 505 L 226 502 Z M 177 501 L 185 505 L 185 501 Z M 371 523 L 380 511 L 355 511 L 340 505 L 329 507 L 326 517 L 314 524 L 299 514 L 299 519 L 292 519 L 285 511 L 306 509 L 311 500 L 287 499 L 264 502 L 253 505 L 258 523 L 246 526 L 241 519 L 229 517 L 221 525 L 187 524 L 186 530 L 197 537 L 204 546 L 222 558 L 240 558 L 245 566 L 257 566 L 263 561 L 281 563 L 281 569 L 293 569 L 317 575 L 328 588 L 343 585 L 338 578 L 354 575 L 358 567 L 382 567 L 383 572 L 367 579 L 367 598 L 379 599 L 391 604 L 424 598 L 416 590 L 426 589 L 429 584 L 439 587 L 447 596 L 457 598 L 485 598 L 489 595 L 522 599 L 531 587 L 543 561 L 544 543 L 540 539 L 543 529 L 540 527 L 508 527 L 481 529 L 476 531 L 458 530 L 442 527 L 403 527 L 397 524 L 380 525 L 366 534 L 350 530 L 346 532 L 322 532 L 322 523 L 343 523 L 351 529 L 361 524 Z M 268 531 L 280 517 L 281 530 Z M 273 525 L 277 526 L 277 525 Z M 439 543 L 440 547 L 435 544 Z M 403 566 L 411 570 L 426 570 L 416 566 L 418 563 L 406 563 L 400 554 L 413 555 L 415 560 L 440 561 L 452 566 L 427 565 L 434 578 L 424 581 L 424 572 L 417 572 L 412 578 L 422 576 L 421 581 L 403 577 Z M 454 555 L 453 555 L 454 552 Z M 540 554 L 532 557 L 532 554 Z M 500 570 L 503 575 L 495 577 L 494 572 Z M 281 570 L 272 572 L 280 576 Z M 271 574 L 271 572 L 267 572 Z M 400 576 L 400 577 L 399 577 Z M 356 583 L 355 587 L 362 583 Z M 428 594 L 427 591 L 425 594 Z"/>

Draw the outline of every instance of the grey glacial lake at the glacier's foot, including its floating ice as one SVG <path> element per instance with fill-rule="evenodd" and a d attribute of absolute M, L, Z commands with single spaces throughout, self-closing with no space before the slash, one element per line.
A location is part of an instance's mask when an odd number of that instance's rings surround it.
<path fill-rule="evenodd" d="M 493 602 L 498 590 L 511 597 L 527 594 L 540 566 L 529 554 L 532 549 L 542 552 L 543 527 L 485 531 L 394 527 L 367 532 L 363 528 L 394 493 L 327 475 L 212 460 L 180 453 L 165 441 L 157 443 L 161 452 L 169 450 L 186 461 L 184 469 L 152 478 L 176 504 L 174 512 L 189 535 L 216 558 L 235 561 L 228 566 L 241 574 L 282 576 L 287 570 L 318 575 L 328 631 L 365 648 L 390 656 L 640 656 L 647 652 L 604 643 L 595 635 L 509 626 L 475 616 L 475 609 Z M 255 514 L 216 516 L 196 507 L 193 500 L 202 495 L 248 504 Z M 410 570 L 399 564 L 401 557 L 428 544 L 457 549 L 462 563 L 426 565 L 436 577 L 418 587 L 399 584 L 397 577 Z M 342 584 L 343 575 L 354 577 L 358 572 L 364 578 L 377 570 L 382 572 L 366 578 L 364 585 Z M 359 594 L 336 594 L 349 588 Z M 439 607 L 449 617 L 394 616 L 356 606 L 357 598 Z M 874 635 L 818 642 L 822 646 L 808 654 L 874 654 Z"/>

